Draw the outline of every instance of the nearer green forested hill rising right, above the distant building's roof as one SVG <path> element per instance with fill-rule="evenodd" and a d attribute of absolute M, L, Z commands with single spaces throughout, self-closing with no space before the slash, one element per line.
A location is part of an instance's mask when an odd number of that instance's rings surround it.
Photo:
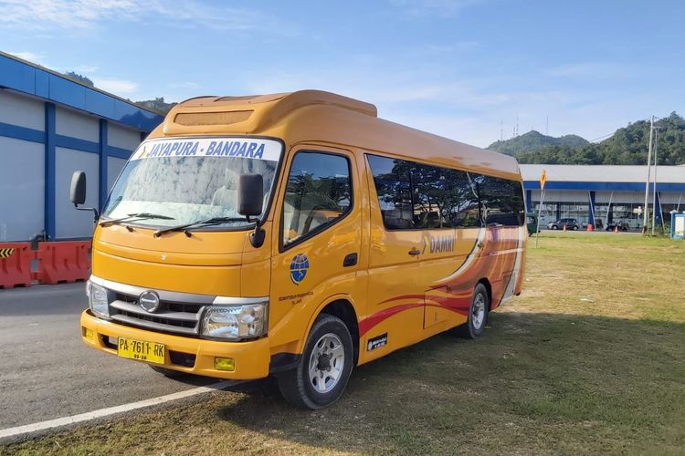
<path fill-rule="evenodd" d="M 685 119 L 675 112 L 655 123 L 659 127 L 660 165 L 685 164 Z M 649 121 L 618 129 L 602 142 L 580 147 L 547 146 L 516 156 L 521 163 L 642 165 L 647 163 Z"/>

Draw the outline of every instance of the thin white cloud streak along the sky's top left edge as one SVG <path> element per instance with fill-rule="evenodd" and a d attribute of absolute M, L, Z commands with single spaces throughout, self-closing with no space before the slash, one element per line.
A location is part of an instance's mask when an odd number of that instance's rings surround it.
<path fill-rule="evenodd" d="M 2 25 L 29 30 L 84 30 L 108 21 L 173 23 L 174 26 L 204 26 L 220 30 L 274 30 L 293 34 L 287 26 L 276 26 L 271 17 L 247 8 L 215 7 L 196 1 L 162 0 L 0 0 Z"/>

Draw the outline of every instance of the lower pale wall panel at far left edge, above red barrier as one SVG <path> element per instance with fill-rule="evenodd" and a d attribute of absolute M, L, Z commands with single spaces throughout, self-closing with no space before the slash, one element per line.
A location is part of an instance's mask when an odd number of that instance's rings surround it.
<path fill-rule="evenodd" d="M 0 159 L 0 242 L 26 241 L 45 226 L 45 146 L 0 136 Z"/>

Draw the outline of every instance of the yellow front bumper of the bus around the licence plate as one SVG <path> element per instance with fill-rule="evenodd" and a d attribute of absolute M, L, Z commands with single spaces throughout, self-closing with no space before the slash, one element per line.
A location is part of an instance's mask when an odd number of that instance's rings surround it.
<path fill-rule="evenodd" d="M 270 351 L 266 337 L 249 342 L 222 342 L 172 336 L 102 320 L 92 316 L 89 310 L 83 311 L 80 323 L 83 342 L 112 355 L 117 355 L 119 337 L 126 337 L 163 344 L 164 364 L 148 363 L 160 368 L 235 380 L 265 378 L 269 375 Z M 234 370 L 216 369 L 215 358 L 232 358 Z"/>

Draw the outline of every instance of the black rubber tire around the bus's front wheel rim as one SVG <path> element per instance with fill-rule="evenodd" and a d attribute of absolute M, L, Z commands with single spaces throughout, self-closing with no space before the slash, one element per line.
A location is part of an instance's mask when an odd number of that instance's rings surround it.
<path fill-rule="evenodd" d="M 321 347 L 317 347 L 321 341 L 325 342 L 324 337 L 330 337 L 329 335 L 334 335 L 338 338 L 338 341 L 342 346 L 342 368 L 340 370 L 339 377 L 332 383 L 332 389 L 321 392 L 315 388 L 313 380 L 310 376 L 310 363 L 312 357 L 316 357 L 316 353 L 321 351 Z M 326 348 L 323 348 L 326 349 Z M 337 348 L 336 348 L 337 349 Z M 316 353 L 315 353 L 316 352 Z M 331 351 L 332 353 L 332 351 Z M 325 354 L 323 354 L 325 355 Z M 318 363 L 328 363 L 330 359 L 319 357 Z M 325 368 L 318 368 L 320 364 L 312 365 L 316 366 L 319 372 L 323 372 L 322 375 L 326 375 L 325 372 L 331 372 L 334 366 L 328 366 L 328 370 Z M 304 351 L 300 358 L 296 368 L 281 372 L 277 377 L 279 382 L 280 393 L 283 398 L 286 399 L 290 404 L 300 409 L 323 409 L 336 402 L 342 397 L 342 392 L 347 387 L 347 381 L 352 374 L 353 368 L 353 342 L 352 336 L 350 336 L 350 331 L 347 329 L 342 320 L 337 316 L 332 316 L 328 314 L 321 314 L 314 325 L 311 326 L 311 331 L 309 337 L 307 337 L 307 343 L 304 346 Z M 321 380 L 317 379 L 317 385 Z M 326 382 L 328 378 L 324 378 L 322 388 L 326 388 Z"/>

